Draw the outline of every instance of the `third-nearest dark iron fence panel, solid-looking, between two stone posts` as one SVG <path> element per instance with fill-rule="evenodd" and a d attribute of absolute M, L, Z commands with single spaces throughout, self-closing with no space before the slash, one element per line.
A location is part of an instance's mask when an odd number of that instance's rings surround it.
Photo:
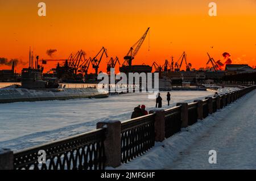
<path fill-rule="evenodd" d="M 181 106 L 166 110 L 164 116 L 166 138 L 180 132 L 181 129 Z"/>

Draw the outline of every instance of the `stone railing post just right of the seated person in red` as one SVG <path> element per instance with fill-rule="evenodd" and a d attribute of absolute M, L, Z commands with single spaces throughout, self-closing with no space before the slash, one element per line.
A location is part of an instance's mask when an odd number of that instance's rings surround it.
<path fill-rule="evenodd" d="M 164 110 L 152 110 L 149 113 L 155 113 L 155 141 L 162 142 L 166 137 Z"/>

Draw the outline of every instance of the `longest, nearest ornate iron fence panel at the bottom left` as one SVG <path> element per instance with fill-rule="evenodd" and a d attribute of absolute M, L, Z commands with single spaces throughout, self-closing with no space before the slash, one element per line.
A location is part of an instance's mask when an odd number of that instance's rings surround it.
<path fill-rule="evenodd" d="M 36 146 L 14 153 L 16 170 L 103 170 L 105 129 Z M 46 163 L 38 162 L 38 151 L 46 151 Z"/>

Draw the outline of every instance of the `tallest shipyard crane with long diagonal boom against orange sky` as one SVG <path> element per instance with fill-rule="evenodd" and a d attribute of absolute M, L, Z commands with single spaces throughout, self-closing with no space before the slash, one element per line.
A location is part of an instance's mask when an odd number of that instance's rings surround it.
<path fill-rule="evenodd" d="M 129 70 L 131 70 L 131 61 L 134 59 L 136 54 L 139 52 L 143 41 L 145 40 L 148 31 L 150 28 L 147 28 L 147 31 L 143 34 L 143 36 L 130 48 L 129 52 L 126 54 L 123 59 L 125 60 L 122 65 L 129 66 Z"/>

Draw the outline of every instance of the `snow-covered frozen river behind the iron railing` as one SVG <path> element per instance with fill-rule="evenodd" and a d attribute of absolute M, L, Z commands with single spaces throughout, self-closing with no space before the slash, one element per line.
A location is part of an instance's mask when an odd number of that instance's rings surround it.
<path fill-rule="evenodd" d="M 213 91 L 172 91 L 170 107 L 213 94 Z M 161 95 L 166 109 L 166 92 Z M 105 99 L 0 104 L 0 148 L 24 149 L 90 131 L 98 121 L 124 121 L 130 119 L 133 108 L 139 104 L 150 110 L 155 107 L 155 100 L 148 99 L 146 93 L 133 93 Z"/>

